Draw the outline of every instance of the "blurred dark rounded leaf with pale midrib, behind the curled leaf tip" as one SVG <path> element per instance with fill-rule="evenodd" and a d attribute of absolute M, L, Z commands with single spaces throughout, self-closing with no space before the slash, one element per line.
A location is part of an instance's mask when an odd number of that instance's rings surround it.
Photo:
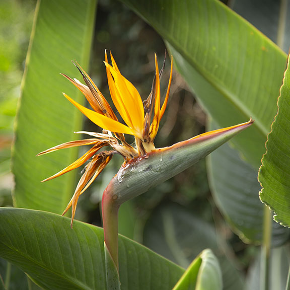
<path fill-rule="evenodd" d="M 143 244 L 185 268 L 201 251 L 210 248 L 219 258 L 224 290 L 242 290 L 242 277 L 233 261 L 223 254 L 220 239 L 210 224 L 180 205 L 167 204 L 151 215 L 144 228 Z"/>

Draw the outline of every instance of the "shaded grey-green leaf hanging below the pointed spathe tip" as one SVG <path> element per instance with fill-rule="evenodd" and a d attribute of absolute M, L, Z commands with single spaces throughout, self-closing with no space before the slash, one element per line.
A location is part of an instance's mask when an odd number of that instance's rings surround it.
<path fill-rule="evenodd" d="M 209 130 L 216 124 L 210 122 Z M 257 171 L 239 153 L 224 144 L 207 157 L 212 196 L 234 231 L 245 242 L 261 242 L 264 205 L 259 199 L 261 186 Z M 272 245 L 285 243 L 289 231 L 273 222 Z"/>

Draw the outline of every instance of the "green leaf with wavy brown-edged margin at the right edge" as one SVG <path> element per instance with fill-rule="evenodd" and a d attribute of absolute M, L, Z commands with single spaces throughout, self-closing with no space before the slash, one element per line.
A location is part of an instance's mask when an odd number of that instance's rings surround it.
<path fill-rule="evenodd" d="M 272 131 L 266 143 L 259 171 L 263 187 L 260 198 L 275 213 L 274 219 L 290 226 L 290 69 L 285 72 L 281 95 L 278 99 L 278 113 L 272 124 Z"/>

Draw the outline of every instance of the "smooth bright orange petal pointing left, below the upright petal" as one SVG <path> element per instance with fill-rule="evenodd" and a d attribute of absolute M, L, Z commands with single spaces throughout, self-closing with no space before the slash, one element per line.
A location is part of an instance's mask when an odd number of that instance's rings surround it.
<path fill-rule="evenodd" d="M 125 134 L 130 134 L 134 135 L 134 130 L 123 125 L 122 123 L 115 121 L 107 116 L 101 115 L 97 112 L 94 112 L 70 97 L 68 97 L 66 94 L 64 94 L 64 97 L 73 105 L 75 105 L 84 115 L 86 115 L 92 122 L 94 122 L 96 125 L 100 126 L 101 128 L 104 128 L 106 130 L 109 130 L 111 132 L 118 132 L 118 133 L 125 133 Z"/>

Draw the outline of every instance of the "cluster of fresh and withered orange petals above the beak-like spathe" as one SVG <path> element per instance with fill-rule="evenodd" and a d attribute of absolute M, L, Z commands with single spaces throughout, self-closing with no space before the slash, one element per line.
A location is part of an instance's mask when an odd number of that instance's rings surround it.
<path fill-rule="evenodd" d="M 74 64 L 82 74 L 86 85 L 76 79 L 73 80 L 64 74 L 61 75 L 73 83 L 85 95 L 94 111 L 78 104 L 65 93 L 63 93 L 63 95 L 91 121 L 103 128 L 103 132 L 78 132 L 91 135 L 94 138 L 62 143 L 38 154 L 38 156 L 40 156 L 59 149 L 77 146 L 93 146 L 74 163 L 70 164 L 53 176 L 43 180 L 44 182 L 56 178 L 70 170 L 82 166 L 89 159 L 91 159 L 85 167 L 85 172 L 77 185 L 73 197 L 62 213 L 64 214 L 71 207 L 71 225 L 73 225 L 75 218 L 79 196 L 92 184 L 92 182 L 109 163 L 114 154 L 120 154 L 124 157 L 125 161 L 129 161 L 135 157 L 144 156 L 155 150 L 154 139 L 168 102 L 172 80 L 172 60 L 167 93 L 161 107 L 160 77 L 164 70 L 165 61 L 161 71 L 159 71 L 157 56 L 155 54 L 156 75 L 154 77 L 152 90 L 149 97 L 142 102 L 136 88 L 121 75 L 111 53 L 110 56 L 112 65 L 108 63 L 107 52 L 105 51 L 104 63 L 106 65 L 109 90 L 112 101 L 126 125 L 119 122 L 108 101 L 102 95 L 98 87 L 94 84 L 84 69 L 76 61 L 74 61 Z M 124 134 L 130 134 L 135 137 L 135 147 L 126 142 Z M 110 146 L 112 150 L 100 151 L 105 146 Z"/>

